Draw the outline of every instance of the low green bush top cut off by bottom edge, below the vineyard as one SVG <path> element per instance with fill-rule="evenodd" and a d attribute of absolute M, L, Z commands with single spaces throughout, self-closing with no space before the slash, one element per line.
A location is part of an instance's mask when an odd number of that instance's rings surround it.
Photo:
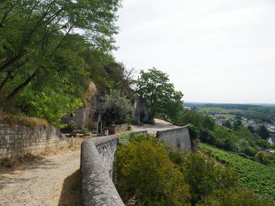
<path fill-rule="evenodd" d="M 225 189 L 217 190 L 210 194 L 207 198 L 197 204 L 198 206 L 233 206 L 233 205 L 245 205 L 245 206 L 259 206 L 266 205 L 272 206 L 274 203 L 267 200 L 257 194 L 254 194 L 251 190 L 246 188 Z"/>

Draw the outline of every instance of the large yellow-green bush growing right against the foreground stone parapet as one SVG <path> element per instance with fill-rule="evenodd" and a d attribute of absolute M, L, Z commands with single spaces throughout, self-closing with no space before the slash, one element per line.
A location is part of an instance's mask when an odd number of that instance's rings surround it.
<path fill-rule="evenodd" d="M 188 185 L 164 146 L 130 141 L 118 148 L 116 168 L 118 192 L 125 202 L 135 198 L 138 205 L 188 205 Z"/>

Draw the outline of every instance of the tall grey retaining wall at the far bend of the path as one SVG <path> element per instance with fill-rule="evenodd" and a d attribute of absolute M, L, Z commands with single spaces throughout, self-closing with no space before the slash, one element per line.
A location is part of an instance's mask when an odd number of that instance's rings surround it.
<path fill-rule="evenodd" d="M 192 152 L 188 126 L 157 131 L 157 137 L 164 139 L 177 152 Z"/>

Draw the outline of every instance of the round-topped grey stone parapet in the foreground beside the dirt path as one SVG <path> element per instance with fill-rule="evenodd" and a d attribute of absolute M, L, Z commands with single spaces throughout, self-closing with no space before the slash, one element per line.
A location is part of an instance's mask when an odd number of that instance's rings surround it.
<path fill-rule="evenodd" d="M 111 179 L 117 135 L 87 139 L 81 145 L 80 204 L 124 205 Z M 104 160 L 104 161 L 103 161 Z M 112 165 L 111 165 L 112 166 Z"/>

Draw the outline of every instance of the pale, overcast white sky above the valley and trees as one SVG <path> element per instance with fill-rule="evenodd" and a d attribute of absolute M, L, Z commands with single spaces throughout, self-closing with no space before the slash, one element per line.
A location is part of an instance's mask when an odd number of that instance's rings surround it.
<path fill-rule="evenodd" d="M 127 68 L 168 74 L 185 102 L 275 103 L 274 0 L 124 0 Z"/>

